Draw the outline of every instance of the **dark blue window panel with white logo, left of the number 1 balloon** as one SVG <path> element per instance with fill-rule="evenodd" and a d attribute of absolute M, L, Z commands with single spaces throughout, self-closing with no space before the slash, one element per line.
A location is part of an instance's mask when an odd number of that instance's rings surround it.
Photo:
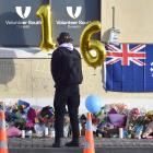
<path fill-rule="evenodd" d="M 38 46 L 40 19 L 36 11 L 45 0 L 0 1 L 0 46 Z"/>

